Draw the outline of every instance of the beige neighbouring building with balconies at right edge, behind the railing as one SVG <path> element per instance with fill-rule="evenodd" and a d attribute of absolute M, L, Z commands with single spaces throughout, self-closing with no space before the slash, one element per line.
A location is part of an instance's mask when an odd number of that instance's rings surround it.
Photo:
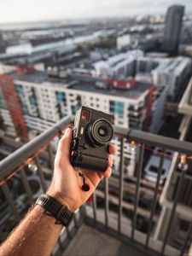
<path fill-rule="evenodd" d="M 192 142 L 192 105 L 190 98 L 192 96 L 192 79 L 184 91 L 181 102 L 178 106 L 178 113 L 183 114 L 183 120 L 179 126 L 180 140 Z M 183 171 L 185 170 L 185 171 Z M 191 223 L 192 216 L 192 179 L 191 179 L 192 162 L 187 160 L 184 166 L 179 166 L 177 161 L 177 152 L 173 154 L 172 165 L 170 166 L 168 176 L 166 177 L 166 183 L 163 191 L 160 195 L 160 205 L 163 211 L 160 213 L 160 218 L 154 232 L 154 237 L 165 236 L 168 228 L 168 222 L 160 228 L 160 222 L 167 220 L 172 213 L 172 201 L 176 200 L 177 190 L 179 183 L 182 180 L 183 172 L 186 172 L 183 176 L 182 189 L 177 197 L 176 216 L 173 219 L 174 229 L 170 234 L 169 240 L 172 244 L 179 247 L 183 240 L 187 236 L 189 225 Z"/>

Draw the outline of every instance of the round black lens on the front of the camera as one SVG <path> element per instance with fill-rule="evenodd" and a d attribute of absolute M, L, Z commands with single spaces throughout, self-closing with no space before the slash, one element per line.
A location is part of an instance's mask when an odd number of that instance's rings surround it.
<path fill-rule="evenodd" d="M 106 119 L 98 119 L 88 127 L 90 141 L 95 147 L 102 146 L 111 141 L 113 127 Z"/>

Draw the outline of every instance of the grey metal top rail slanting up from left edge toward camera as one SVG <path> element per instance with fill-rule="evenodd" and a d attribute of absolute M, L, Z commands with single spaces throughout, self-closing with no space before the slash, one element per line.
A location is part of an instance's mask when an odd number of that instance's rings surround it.
<path fill-rule="evenodd" d="M 17 149 L 14 153 L 10 154 L 4 160 L 0 162 L 0 180 L 9 175 L 17 166 L 21 166 L 23 162 L 35 154 L 40 148 L 44 147 L 46 143 L 49 143 L 58 132 L 73 121 L 72 116 L 67 116 L 64 119 L 44 131 L 38 137 L 32 139 L 31 142 L 26 143 L 21 148 Z"/>

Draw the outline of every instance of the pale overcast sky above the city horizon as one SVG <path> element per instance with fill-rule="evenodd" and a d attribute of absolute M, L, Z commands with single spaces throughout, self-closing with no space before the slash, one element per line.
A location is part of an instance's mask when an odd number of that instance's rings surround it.
<path fill-rule="evenodd" d="M 0 23 L 164 14 L 169 5 L 192 0 L 0 0 Z"/>

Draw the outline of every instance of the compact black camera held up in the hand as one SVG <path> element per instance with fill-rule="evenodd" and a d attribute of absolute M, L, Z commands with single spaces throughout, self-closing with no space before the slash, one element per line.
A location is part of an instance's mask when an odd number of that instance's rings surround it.
<path fill-rule="evenodd" d="M 82 106 L 75 115 L 71 164 L 105 172 L 108 167 L 108 143 L 113 138 L 113 116 Z"/>

